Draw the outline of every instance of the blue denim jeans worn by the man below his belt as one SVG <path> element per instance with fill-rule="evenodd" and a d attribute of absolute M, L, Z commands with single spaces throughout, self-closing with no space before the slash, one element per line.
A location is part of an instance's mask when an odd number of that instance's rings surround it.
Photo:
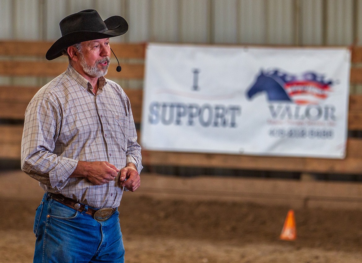
<path fill-rule="evenodd" d="M 118 210 L 103 222 L 51 199 L 47 193 L 34 220 L 34 263 L 124 262 Z"/>

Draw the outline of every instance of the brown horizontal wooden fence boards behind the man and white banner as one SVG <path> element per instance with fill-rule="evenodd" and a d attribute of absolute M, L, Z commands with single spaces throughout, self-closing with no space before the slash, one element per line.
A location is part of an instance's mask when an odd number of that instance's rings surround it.
<path fill-rule="evenodd" d="M 45 53 L 51 42 L 0 41 L 0 76 L 5 77 L 55 77 L 64 72 L 66 59 L 47 61 Z M 112 61 L 109 79 L 143 80 L 146 44 L 112 44 L 112 49 L 122 61 L 121 74 L 115 71 Z M 352 47 L 351 83 L 362 84 L 362 47 Z M 0 160 L 20 159 L 20 143 L 24 112 L 30 99 L 40 86 L 0 86 Z M 142 90 L 123 87 L 130 98 L 134 119 L 141 122 Z M 362 95 L 352 94 L 349 100 L 348 129 L 350 134 L 362 131 Z M 362 132 L 361 132 L 362 133 Z M 142 144 L 142 142 L 141 142 Z M 211 153 L 179 153 L 143 150 L 144 165 L 169 165 L 189 167 L 227 167 L 228 169 L 295 171 L 300 173 L 362 174 L 362 138 L 349 137 L 347 154 L 343 160 L 246 156 Z"/>

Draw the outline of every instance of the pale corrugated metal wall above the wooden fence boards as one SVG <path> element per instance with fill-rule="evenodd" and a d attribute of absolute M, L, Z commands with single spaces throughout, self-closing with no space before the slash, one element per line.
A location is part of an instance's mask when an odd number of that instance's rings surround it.
<path fill-rule="evenodd" d="M 94 8 L 120 14 L 117 41 L 287 45 L 361 44 L 361 0 L 1 0 L 1 39 L 60 37 L 59 21 Z"/>

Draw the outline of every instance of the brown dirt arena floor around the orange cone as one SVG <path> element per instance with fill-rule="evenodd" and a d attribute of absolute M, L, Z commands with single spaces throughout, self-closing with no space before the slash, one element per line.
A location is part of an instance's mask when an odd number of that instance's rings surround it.
<path fill-rule="evenodd" d="M 32 262 L 42 190 L 31 180 L 0 173 L 0 262 Z M 297 239 L 282 241 L 288 207 L 132 194 L 119 207 L 128 263 L 362 262 L 362 210 L 296 209 Z"/>

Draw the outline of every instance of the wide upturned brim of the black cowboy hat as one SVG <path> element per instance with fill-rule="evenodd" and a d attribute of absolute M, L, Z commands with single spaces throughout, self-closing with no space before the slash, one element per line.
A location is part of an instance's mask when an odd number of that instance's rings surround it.
<path fill-rule="evenodd" d="M 64 49 L 76 43 L 94 39 L 117 37 L 119 35 L 125 34 L 128 30 L 128 24 L 121 16 L 109 17 L 104 21 L 104 23 L 106 24 L 108 30 L 102 33 L 94 31 L 76 31 L 63 35 L 61 38 L 55 41 L 46 52 L 46 59 L 52 60 L 58 58 L 62 55 Z"/>

